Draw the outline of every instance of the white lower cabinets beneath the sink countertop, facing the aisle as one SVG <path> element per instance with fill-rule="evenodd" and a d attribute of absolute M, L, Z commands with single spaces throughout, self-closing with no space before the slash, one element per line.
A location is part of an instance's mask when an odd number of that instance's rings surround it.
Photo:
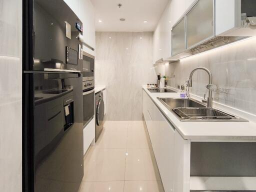
<path fill-rule="evenodd" d="M 189 192 L 190 141 L 166 120 L 143 90 L 143 115 L 165 192 Z"/>

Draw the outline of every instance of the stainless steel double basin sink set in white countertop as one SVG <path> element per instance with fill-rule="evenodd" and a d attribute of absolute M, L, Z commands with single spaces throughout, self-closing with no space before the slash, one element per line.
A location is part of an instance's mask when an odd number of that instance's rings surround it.
<path fill-rule="evenodd" d="M 203 103 L 191 98 L 157 98 L 181 121 L 247 121 L 215 108 L 207 108 Z"/>

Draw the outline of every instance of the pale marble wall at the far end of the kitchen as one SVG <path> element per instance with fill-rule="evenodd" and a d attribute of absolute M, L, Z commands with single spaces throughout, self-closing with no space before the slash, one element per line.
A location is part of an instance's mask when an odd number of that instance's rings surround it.
<path fill-rule="evenodd" d="M 106 85 L 107 120 L 140 120 L 141 85 L 155 83 L 152 32 L 96 32 L 95 84 Z"/>

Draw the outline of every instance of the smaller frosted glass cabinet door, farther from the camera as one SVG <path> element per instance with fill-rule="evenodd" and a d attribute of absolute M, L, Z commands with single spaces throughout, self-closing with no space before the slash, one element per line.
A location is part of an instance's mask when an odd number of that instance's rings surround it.
<path fill-rule="evenodd" d="M 180 20 L 171 30 L 171 55 L 185 50 L 185 18 Z"/>

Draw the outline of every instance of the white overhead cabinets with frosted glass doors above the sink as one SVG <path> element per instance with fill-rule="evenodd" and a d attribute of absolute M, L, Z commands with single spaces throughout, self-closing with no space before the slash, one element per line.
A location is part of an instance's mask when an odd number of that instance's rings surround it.
<path fill-rule="evenodd" d="M 180 59 L 248 36 L 255 36 L 255 7 L 256 0 L 194 1 L 171 29 L 172 51 L 168 60 Z M 181 31 L 183 28 L 184 38 Z M 183 44 L 184 51 L 181 48 Z"/>

